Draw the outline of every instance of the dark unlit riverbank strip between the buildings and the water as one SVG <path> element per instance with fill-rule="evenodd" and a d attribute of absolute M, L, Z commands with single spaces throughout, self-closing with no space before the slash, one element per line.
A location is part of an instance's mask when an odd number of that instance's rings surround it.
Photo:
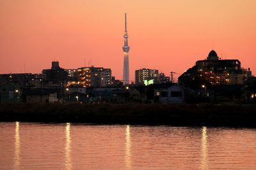
<path fill-rule="evenodd" d="M 2 103 L 0 121 L 256 127 L 256 106 Z"/>

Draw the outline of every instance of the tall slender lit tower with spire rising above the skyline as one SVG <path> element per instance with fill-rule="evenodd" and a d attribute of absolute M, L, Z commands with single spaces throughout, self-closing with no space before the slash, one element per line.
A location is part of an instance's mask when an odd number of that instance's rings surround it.
<path fill-rule="evenodd" d="M 128 46 L 128 34 L 127 34 L 127 23 L 126 23 L 126 13 L 125 13 L 125 31 L 124 31 L 124 73 L 123 73 L 123 81 L 124 85 L 129 84 L 129 50 L 130 46 Z"/>

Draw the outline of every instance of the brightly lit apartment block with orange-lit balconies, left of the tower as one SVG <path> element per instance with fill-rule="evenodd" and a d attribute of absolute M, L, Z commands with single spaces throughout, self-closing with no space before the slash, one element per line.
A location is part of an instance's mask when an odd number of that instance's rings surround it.
<path fill-rule="evenodd" d="M 103 67 L 78 68 L 77 77 L 77 84 L 83 87 L 106 87 L 111 85 L 111 69 Z"/>

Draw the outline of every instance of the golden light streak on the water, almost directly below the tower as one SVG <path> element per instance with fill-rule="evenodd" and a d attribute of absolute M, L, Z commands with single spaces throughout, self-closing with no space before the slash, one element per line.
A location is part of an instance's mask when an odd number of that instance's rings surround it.
<path fill-rule="evenodd" d="M 127 169 L 131 169 L 131 133 L 130 133 L 130 125 L 126 126 L 125 131 L 125 166 Z"/>

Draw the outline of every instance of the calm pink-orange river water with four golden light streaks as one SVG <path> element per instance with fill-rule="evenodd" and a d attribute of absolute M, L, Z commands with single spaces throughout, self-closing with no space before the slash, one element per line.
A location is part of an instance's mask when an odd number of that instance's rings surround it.
<path fill-rule="evenodd" d="M 0 169 L 256 169 L 256 129 L 0 123 Z"/>

